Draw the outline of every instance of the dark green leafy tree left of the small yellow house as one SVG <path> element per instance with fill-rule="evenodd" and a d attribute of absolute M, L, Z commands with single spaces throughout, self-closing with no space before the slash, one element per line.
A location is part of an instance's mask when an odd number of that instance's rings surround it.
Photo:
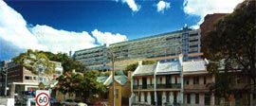
<path fill-rule="evenodd" d="M 66 72 L 58 78 L 58 89 L 64 94 L 78 94 L 84 100 L 95 95 L 101 96 L 107 88 L 97 81 L 99 75 L 99 71 L 86 71 L 83 74 Z"/>

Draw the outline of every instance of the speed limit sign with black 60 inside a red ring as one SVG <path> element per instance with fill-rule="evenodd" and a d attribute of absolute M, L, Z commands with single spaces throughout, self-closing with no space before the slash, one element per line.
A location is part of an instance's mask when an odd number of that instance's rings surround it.
<path fill-rule="evenodd" d="M 40 93 L 36 97 L 36 104 L 38 106 L 48 106 L 49 104 L 49 95 L 46 93 Z"/>

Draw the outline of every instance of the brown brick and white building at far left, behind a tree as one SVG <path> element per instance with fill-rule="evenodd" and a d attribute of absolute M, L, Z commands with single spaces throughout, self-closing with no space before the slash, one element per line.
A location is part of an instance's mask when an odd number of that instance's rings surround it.
<path fill-rule="evenodd" d="M 52 84 L 56 84 L 57 81 L 52 81 L 56 79 L 63 73 L 63 66 L 61 62 L 53 62 L 55 63 L 55 73 L 51 75 L 46 75 L 44 72 L 39 74 L 34 74 L 31 71 L 27 70 L 27 68 L 21 64 L 17 64 L 14 62 L 7 62 L 6 71 L 7 75 L 7 83 L 9 87 L 8 95 L 10 97 L 14 97 L 15 94 L 22 94 L 23 91 L 31 91 L 38 89 L 38 85 L 40 82 L 47 84 L 49 86 L 51 82 Z M 1 78 L 0 78 L 1 79 Z M 5 87 L 5 86 L 2 86 Z M 4 92 L 4 91 L 3 91 Z"/>

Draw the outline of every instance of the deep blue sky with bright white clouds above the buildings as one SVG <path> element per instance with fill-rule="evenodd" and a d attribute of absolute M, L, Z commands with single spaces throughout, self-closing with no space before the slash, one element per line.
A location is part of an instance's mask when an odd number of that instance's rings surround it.
<path fill-rule="evenodd" d="M 27 49 L 53 53 L 198 28 L 242 0 L 0 0 L 0 61 Z"/>

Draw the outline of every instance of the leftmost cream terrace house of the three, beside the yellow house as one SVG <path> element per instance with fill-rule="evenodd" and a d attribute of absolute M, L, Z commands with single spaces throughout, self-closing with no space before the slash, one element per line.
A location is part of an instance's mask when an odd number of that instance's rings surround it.
<path fill-rule="evenodd" d="M 139 62 L 132 75 L 132 104 L 155 104 L 155 67 L 156 64 L 142 65 Z"/>

